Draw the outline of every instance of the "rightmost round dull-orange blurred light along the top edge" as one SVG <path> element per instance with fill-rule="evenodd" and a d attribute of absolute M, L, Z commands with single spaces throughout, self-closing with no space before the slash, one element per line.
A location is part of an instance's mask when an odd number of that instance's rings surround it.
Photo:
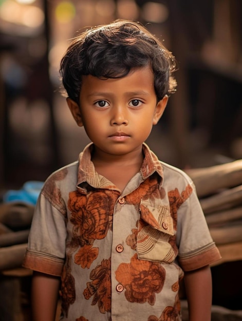
<path fill-rule="evenodd" d="M 169 16 L 167 7 L 157 2 L 146 2 L 142 7 L 142 16 L 147 22 L 163 23 Z"/>

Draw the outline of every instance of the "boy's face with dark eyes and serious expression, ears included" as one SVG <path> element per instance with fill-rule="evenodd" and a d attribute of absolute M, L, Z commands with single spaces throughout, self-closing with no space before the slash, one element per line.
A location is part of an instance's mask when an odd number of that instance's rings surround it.
<path fill-rule="evenodd" d="M 167 103 L 165 96 L 157 104 L 151 68 L 137 68 L 117 79 L 87 75 L 82 80 L 80 108 L 69 98 L 67 103 L 95 151 L 106 155 L 141 152 Z"/>

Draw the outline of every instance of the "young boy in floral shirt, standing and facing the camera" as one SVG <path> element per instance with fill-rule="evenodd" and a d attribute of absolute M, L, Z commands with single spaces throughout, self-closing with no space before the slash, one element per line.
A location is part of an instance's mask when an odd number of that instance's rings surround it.
<path fill-rule="evenodd" d="M 24 266 L 34 321 L 209 321 L 220 258 L 191 179 L 144 144 L 175 91 L 173 55 L 139 23 L 82 33 L 61 62 L 67 104 L 93 143 L 40 194 Z"/>

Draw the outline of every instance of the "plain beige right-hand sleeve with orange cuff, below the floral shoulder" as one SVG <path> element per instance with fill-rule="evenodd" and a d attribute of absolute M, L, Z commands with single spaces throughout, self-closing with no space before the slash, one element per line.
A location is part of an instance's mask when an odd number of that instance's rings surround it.
<path fill-rule="evenodd" d="M 195 186 L 177 213 L 178 260 L 184 271 L 192 271 L 216 262 L 220 253 L 211 237 Z"/>

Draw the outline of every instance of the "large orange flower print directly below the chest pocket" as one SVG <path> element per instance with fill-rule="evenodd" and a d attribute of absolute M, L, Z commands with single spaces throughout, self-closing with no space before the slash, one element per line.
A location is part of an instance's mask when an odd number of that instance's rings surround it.
<path fill-rule="evenodd" d="M 116 271 L 116 279 L 125 288 L 128 302 L 155 304 L 155 293 L 164 285 L 165 269 L 157 262 L 138 259 L 137 254 L 131 263 L 121 263 Z"/>

